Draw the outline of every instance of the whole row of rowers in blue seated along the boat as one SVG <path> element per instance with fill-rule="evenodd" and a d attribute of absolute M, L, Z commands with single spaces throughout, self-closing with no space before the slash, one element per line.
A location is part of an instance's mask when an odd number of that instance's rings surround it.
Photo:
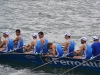
<path fill-rule="evenodd" d="M 48 40 L 44 37 L 44 33 L 42 31 L 39 32 L 38 34 L 33 33 L 32 34 L 33 40 L 31 41 L 30 44 L 25 46 L 24 40 L 21 37 L 20 29 L 17 29 L 15 32 L 16 32 L 16 38 L 14 40 L 12 40 L 9 37 L 8 31 L 3 32 L 3 37 L 5 39 L 1 40 L 0 38 L 1 52 L 9 52 L 10 50 L 15 50 L 14 52 L 24 53 L 25 51 L 27 51 L 25 53 L 28 54 L 42 53 L 47 56 L 55 56 L 55 57 L 61 57 L 61 56 L 66 57 L 67 55 L 67 57 L 72 57 L 77 59 L 90 59 L 91 57 L 100 54 L 100 42 L 97 36 L 93 37 L 94 42 L 92 45 L 86 43 L 87 42 L 86 37 L 82 37 L 80 39 L 81 46 L 79 47 L 79 50 L 75 50 L 75 43 L 73 40 L 71 40 L 70 33 L 66 33 L 64 35 L 66 41 L 62 45 L 48 42 Z M 79 55 L 80 53 L 83 54 Z M 100 60 L 100 56 L 97 57 L 96 60 Z"/>

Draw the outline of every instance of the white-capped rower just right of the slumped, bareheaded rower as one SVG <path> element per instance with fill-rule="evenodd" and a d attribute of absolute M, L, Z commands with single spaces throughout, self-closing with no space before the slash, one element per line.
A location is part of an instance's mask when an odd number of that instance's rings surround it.
<path fill-rule="evenodd" d="M 65 34 L 66 41 L 63 45 L 64 46 L 63 51 L 64 51 L 64 55 L 73 52 L 73 53 L 67 55 L 68 57 L 73 57 L 74 56 L 74 46 L 75 46 L 75 44 L 74 44 L 74 41 L 72 41 L 70 37 L 71 37 L 70 33 Z"/>

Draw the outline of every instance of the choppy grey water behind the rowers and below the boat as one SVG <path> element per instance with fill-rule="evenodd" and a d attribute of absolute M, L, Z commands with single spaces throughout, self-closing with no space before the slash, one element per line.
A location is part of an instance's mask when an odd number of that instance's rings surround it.
<path fill-rule="evenodd" d="M 33 32 L 43 31 L 50 42 L 63 43 L 64 34 L 70 32 L 76 43 L 85 36 L 92 43 L 92 36 L 100 36 L 100 0 L 0 0 L 0 35 L 10 31 L 15 37 L 16 29 L 22 30 L 25 43 Z M 34 73 L 30 69 L 15 69 L 1 65 L 0 75 L 49 75 Z M 68 75 L 89 75 L 69 73 Z M 92 74 L 90 74 L 92 75 Z"/>

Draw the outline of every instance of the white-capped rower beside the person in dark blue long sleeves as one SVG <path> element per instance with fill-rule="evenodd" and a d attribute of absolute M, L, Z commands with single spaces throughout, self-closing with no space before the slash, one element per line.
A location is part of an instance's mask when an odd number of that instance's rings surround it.
<path fill-rule="evenodd" d="M 81 56 L 74 56 L 73 58 L 77 58 L 77 59 L 90 59 L 91 58 L 92 49 L 91 49 L 91 46 L 86 43 L 86 41 L 87 41 L 86 37 L 81 38 L 81 46 L 79 50 L 74 50 L 74 51 L 77 54 L 80 54 L 82 52 L 83 54 Z"/>

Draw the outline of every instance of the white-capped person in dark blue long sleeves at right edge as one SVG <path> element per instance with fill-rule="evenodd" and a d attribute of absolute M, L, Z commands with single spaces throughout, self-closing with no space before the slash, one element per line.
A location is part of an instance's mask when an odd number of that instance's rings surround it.
<path fill-rule="evenodd" d="M 94 57 L 100 54 L 100 42 L 98 36 L 94 36 L 93 41 L 94 43 L 91 45 L 91 47 L 92 47 L 92 56 Z M 95 58 L 95 60 L 100 60 L 100 56 Z"/>

